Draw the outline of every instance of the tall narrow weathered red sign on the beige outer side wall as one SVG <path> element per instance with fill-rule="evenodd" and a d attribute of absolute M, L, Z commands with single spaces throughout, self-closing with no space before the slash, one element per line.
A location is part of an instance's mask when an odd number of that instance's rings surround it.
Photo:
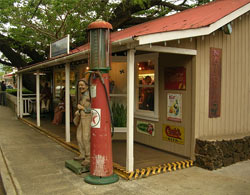
<path fill-rule="evenodd" d="M 222 49 L 210 48 L 209 118 L 220 117 Z"/>

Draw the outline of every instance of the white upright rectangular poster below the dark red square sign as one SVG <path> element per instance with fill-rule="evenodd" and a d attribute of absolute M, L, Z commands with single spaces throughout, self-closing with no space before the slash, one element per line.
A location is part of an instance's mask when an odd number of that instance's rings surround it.
<path fill-rule="evenodd" d="M 182 94 L 168 93 L 167 119 L 182 121 Z"/>

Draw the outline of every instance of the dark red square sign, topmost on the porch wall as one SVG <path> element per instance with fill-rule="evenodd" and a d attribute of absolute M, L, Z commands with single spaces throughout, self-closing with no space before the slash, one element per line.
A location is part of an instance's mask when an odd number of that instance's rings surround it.
<path fill-rule="evenodd" d="M 165 90 L 185 90 L 186 89 L 186 68 L 167 67 L 164 72 Z"/>

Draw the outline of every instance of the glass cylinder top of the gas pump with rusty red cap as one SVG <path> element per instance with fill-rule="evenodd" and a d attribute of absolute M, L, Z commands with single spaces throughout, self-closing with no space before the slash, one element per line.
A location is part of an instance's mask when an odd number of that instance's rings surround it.
<path fill-rule="evenodd" d="M 102 20 L 97 20 L 88 26 L 91 70 L 110 70 L 110 29 L 112 29 L 111 24 Z"/>

